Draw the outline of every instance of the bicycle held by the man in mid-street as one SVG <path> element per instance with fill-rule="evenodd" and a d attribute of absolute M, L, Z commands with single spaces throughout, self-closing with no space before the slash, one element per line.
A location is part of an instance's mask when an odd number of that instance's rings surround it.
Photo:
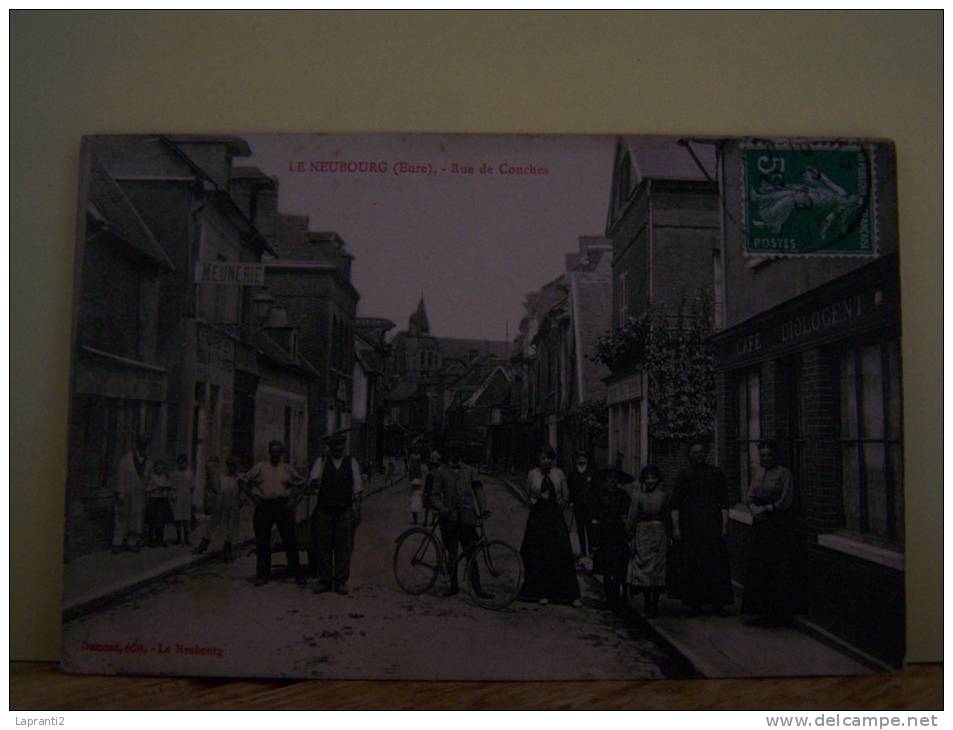
<path fill-rule="evenodd" d="M 449 576 L 466 559 L 467 588 L 470 597 L 482 608 L 503 610 L 523 587 L 523 559 L 519 551 L 503 540 L 487 540 L 484 512 L 477 522 L 477 540 L 461 550 L 453 565 L 448 565 L 447 551 L 437 536 L 436 520 L 432 525 L 412 527 L 397 538 L 394 550 L 394 577 L 404 592 L 419 596 L 433 588 L 438 575 Z M 474 585 L 479 574 L 480 590 Z"/>

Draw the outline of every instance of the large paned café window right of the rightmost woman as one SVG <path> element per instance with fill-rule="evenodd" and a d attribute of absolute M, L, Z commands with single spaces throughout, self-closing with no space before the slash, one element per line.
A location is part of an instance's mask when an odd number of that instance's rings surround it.
<path fill-rule="evenodd" d="M 903 541 L 900 341 L 840 354 L 840 460 L 844 526 Z"/>

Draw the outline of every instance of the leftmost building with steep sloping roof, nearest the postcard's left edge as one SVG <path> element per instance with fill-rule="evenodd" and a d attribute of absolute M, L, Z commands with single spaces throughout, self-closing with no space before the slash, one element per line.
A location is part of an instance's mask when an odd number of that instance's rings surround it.
<path fill-rule="evenodd" d="M 112 471 L 136 434 L 160 442 L 168 370 L 158 358 L 159 280 L 175 270 L 119 184 L 83 158 L 86 207 L 77 250 L 66 558 L 108 544 Z"/>

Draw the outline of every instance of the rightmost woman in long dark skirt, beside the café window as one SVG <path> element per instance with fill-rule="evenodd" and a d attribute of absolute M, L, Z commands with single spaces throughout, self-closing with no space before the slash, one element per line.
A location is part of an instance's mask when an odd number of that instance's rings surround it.
<path fill-rule="evenodd" d="M 789 624 L 797 607 L 794 479 L 777 453 L 774 441 L 759 445 L 761 468 L 747 499 L 753 524 L 741 612 L 764 626 Z"/>

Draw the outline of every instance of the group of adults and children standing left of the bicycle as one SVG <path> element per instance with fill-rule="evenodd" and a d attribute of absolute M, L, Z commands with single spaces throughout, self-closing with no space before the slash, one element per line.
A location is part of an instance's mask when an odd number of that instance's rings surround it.
<path fill-rule="evenodd" d="M 277 527 L 291 575 L 299 584 L 307 583 L 298 555 L 295 507 L 306 494 L 316 495 L 310 515 L 310 555 L 316 561 L 318 582 L 315 593 L 331 590 L 348 593 L 351 551 L 356 515 L 364 479 L 357 460 L 346 455 L 346 437 L 336 434 L 328 440 L 328 454 L 315 460 L 307 477 L 285 462 L 285 446 L 280 441 L 268 445 L 268 459 L 245 474 L 239 474 L 232 458 L 225 461 L 210 456 L 206 462 L 203 504 L 193 506 L 195 478 L 188 457 L 180 455 L 171 475 L 162 461 L 149 459 L 149 438 L 140 435 L 133 448 L 119 460 L 115 480 L 113 552 L 139 552 L 143 542 L 163 547 L 166 525 L 174 523 L 173 544 L 191 545 L 190 528 L 198 524 L 198 544 L 193 554 L 202 554 L 223 538 L 223 557 L 235 557 L 239 515 L 244 505 L 252 505 L 255 532 L 255 585 L 271 579 L 272 529 Z M 143 540 L 144 530 L 146 534 Z"/>

